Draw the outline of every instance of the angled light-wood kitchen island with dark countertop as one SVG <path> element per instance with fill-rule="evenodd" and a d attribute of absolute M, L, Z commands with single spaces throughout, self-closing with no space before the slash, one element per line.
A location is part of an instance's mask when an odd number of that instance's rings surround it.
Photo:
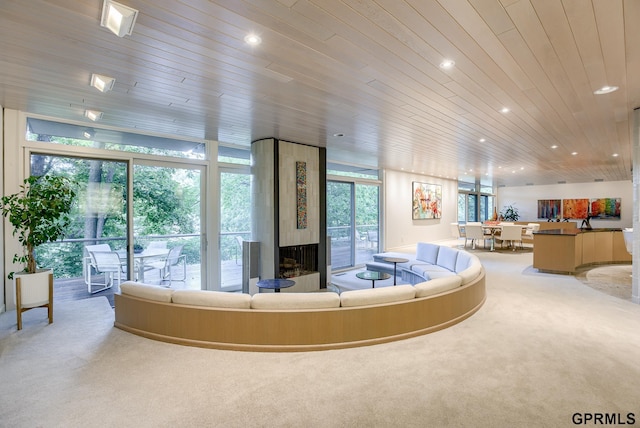
<path fill-rule="evenodd" d="M 631 263 L 622 229 L 551 229 L 533 234 L 533 267 L 574 274 L 583 266 Z"/>

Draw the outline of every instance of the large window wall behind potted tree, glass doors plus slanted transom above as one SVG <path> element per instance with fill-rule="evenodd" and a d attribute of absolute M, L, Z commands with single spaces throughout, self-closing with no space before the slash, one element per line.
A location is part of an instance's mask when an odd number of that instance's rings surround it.
<path fill-rule="evenodd" d="M 203 144 L 33 118 L 27 128 L 28 173 L 78 187 L 65 238 L 38 249 L 38 263 L 54 267 L 57 298 L 114 291 L 126 279 L 205 287 Z M 91 252 L 105 251 L 121 268 L 97 267 L 102 254 Z"/>

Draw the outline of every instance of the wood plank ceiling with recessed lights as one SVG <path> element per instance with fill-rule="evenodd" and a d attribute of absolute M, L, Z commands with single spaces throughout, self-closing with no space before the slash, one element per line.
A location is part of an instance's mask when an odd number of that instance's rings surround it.
<path fill-rule="evenodd" d="M 637 0 L 122 0 L 123 38 L 102 3 L 0 1 L 3 107 L 509 186 L 631 178 Z"/>

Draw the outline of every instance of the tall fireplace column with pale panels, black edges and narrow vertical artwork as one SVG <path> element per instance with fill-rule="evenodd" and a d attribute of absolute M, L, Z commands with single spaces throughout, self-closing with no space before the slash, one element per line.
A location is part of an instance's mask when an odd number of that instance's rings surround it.
<path fill-rule="evenodd" d="M 282 292 L 326 287 L 325 153 L 274 138 L 251 144 L 252 240 L 260 242 L 260 278 L 280 277 L 281 253 L 290 247 L 312 246 L 318 255 L 315 272 L 292 277 L 296 285 Z"/>

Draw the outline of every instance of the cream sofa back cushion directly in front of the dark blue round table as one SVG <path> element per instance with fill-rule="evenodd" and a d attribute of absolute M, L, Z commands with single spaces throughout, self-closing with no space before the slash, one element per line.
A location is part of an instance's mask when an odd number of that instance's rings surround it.
<path fill-rule="evenodd" d="M 340 307 L 340 296 L 330 291 L 317 293 L 258 293 L 252 309 L 327 309 Z"/>

